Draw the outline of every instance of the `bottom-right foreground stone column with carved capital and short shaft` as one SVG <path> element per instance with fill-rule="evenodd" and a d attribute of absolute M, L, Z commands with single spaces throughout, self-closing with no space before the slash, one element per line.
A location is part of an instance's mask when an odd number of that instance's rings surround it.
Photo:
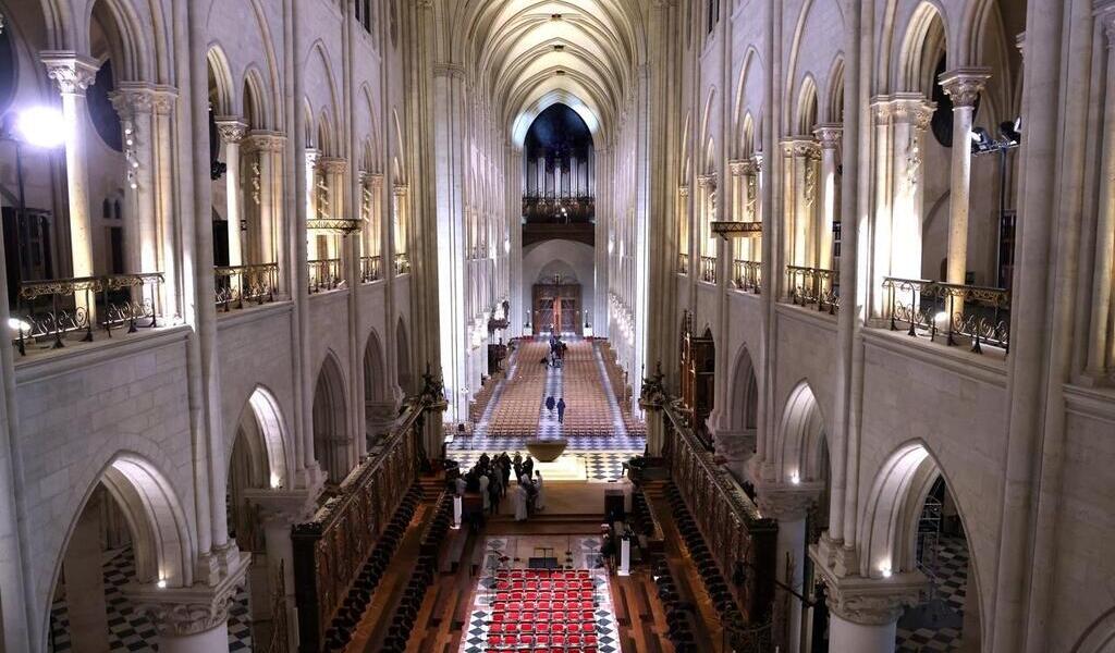
<path fill-rule="evenodd" d="M 836 578 L 820 567 L 828 589 L 828 649 L 893 653 L 899 617 L 917 605 L 925 584 L 920 572 L 890 578 Z"/>

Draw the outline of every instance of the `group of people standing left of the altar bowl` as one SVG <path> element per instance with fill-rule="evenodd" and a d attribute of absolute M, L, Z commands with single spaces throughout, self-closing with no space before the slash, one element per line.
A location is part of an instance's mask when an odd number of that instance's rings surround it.
<path fill-rule="evenodd" d="M 515 478 L 512 487 L 512 476 Z M 515 520 L 522 522 L 533 510 L 545 508 L 545 491 L 542 485 L 542 471 L 534 469 L 534 459 L 530 454 L 523 458 L 518 452 L 514 457 L 506 451 L 497 456 L 481 454 L 466 474 L 456 480 L 457 496 L 466 491 L 481 495 L 485 514 L 500 511 L 500 501 L 511 493 L 512 505 L 515 507 Z"/>

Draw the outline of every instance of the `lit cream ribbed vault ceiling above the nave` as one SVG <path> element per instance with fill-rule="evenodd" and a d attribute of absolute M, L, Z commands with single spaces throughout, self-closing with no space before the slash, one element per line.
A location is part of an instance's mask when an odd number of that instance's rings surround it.
<path fill-rule="evenodd" d="M 468 0 L 466 60 L 517 145 L 555 103 L 607 134 L 640 58 L 634 1 Z"/>

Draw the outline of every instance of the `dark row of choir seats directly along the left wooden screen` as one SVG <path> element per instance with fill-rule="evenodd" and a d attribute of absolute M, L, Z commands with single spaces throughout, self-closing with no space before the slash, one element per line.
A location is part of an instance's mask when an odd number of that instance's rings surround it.
<path fill-rule="evenodd" d="M 391 516 L 391 520 L 384 528 L 384 532 L 379 534 L 379 538 L 376 540 L 376 548 L 368 556 L 363 567 L 360 568 L 360 574 L 352 583 L 352 587 L 349 588 L 349 593 L 345 597 L 345 603 L 341 604 L 340 610 L 337 611 L 337 615 L 326 631 L 326 650 L 343 651 L 348 646 L 349 641 L 352 639 L 353 628 L 360 623 L 360 618 L 371 603 L 372 593 L 375 593 L 379 581 L 384 577 L 384 571 L 390 564 L 391 556 L 395 555 L 395 550 L 399 546 L 399 540 L 403 539 L 403 535 L 406 533 L 410 519 L 414 518 L 415 510 L 418 508 L 420 501 L 421 489 L 418 486 L 411 487 L 404 495 L 399 507 L 395 510 L 395 515 Z"/>

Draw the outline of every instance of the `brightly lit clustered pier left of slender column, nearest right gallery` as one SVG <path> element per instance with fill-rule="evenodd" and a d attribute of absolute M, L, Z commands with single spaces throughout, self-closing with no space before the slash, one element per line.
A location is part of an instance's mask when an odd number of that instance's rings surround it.
<path fill-rule="evenodd" d="M 937 105 L 920 92 L 900 92 L 891 101 L 892 207 L 888 273 L 921 279 L 922 136 Z M 956 149 L 956 148 L 953 148 Z"/>

